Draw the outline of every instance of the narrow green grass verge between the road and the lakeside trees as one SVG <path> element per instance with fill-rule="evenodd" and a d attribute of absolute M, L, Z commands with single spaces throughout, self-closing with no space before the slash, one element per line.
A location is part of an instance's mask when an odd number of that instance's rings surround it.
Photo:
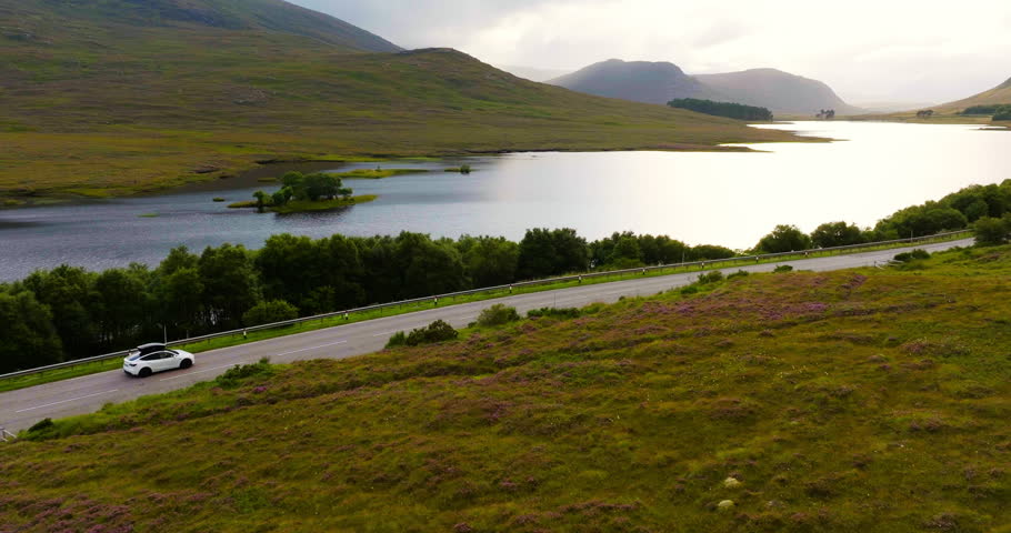
<path fill-rule="evenodd" d="M 944 240 L 957 240 L 957 239 L 961 239 L 964 237 L 965 235 L 963 235 L 963 234 L 954 234 L 950 238 L 938 239 L 938 240 L 931 241 L 931 242 L 943 242 Z M 859 253 L 859 252 L 867 252 L 867 251 L 874 251 L 874 250 L 889 250 L 889 249 L 904 248 L 904 247 L 907 247 L 907 245 L 905 244 L 882 244 L 882 245 L 862 248 L 862 249 L 855 250 L 853 252 L 812 250 L 808 253 L 808 258 L 833 257 L 833 255 L 842 255 L 845 253 Z M 781 263 L 781 262 L 788 262 L 788 261 L 793 261 L 793 260 L 798 260 L 798 259 L 804 259 L 804 254 L 798 253 L 795 255 L 788 255 L 788 257 L 784 257 L 781 259 L 775 259 L 775 260 L 764 260 L 764 261 L 760 261 L 758 263 L 755 263 L 754 260 L 750 260 L 750 261 L 724 260 L 718 264 L 718 268 L 725 270 L 725 269 L 733 269 L 737 266 L 745 266 L 745 265 L 752 265 L 752 264 Z M 709 268 L 711 268 L 711 265 Z M 593 284 L 598 284 L 598 283 L 611 283 L 611 282 L 617 282 L 617 281 L 625 281 L 625 280 L 633 280 L 633 279 L 641 279 L 641 278 L 654 278 L 654 276 L 671 275 L 671 274 L 688 273 L 688 272 L 702 273 L 707 270 L 708 270 L 708 268 L 702 268 L 702 266 L 674 266 L 674 268 L 670 268 L 670 269 L 648 271 L 644 274 L 637 273 L 637 272 L 630 272 L 630 273 L 624 273 L 624 274 L 612 274 L 612 275 L 607 275 L 607 276 L 585 278 L 581 282 L 580 281 L 564 281 L 564 282 L 555 282 L 555 283 L 544 283 L 544 284 L 533 285 L 533 286 L 519 286 L 519 288 L 514 288 L 512 290 L 509 290 L 509 289 L 489 290 L 489 291 L 483 291 L 483 292 L 479 292 L 476 294 L 467 294 L 467 295 L 460 295 L 460 296 L 452 296 L 449 299 L 442 299 L 440 302 L 440 305 L 447 306 L 447 305 L 458 305 L 458 304 L 471 303 L 471 302 L 483 302 L 486 300 L 494 300 L 498 298 L 504 298 L 504 296 L 510 296 L 510 295 L 553 291 L 553 290 L 559 290 L 559 289 L 569 289 L 569 288 L 573 288 L 573 286 L 581 286 L 581 285 L 593 285 Z M 343 324 L 362 322 L 362 321 L 367 321 L 367 320 L 374 320 L 374 319 L 380 319 L 383 316 L 392 316 L 392 315 L 412 313 L 416 311 L 432 309 L 432 306 L 433 306 L 433 304 L 430 301 L 414 302 L 414 303 L 402 304 L 402 305 L 397 305 L 397 306 L 376 310 L 376 311 L 351 313 L 348 315 L 347 320 L 340 315 L 330 316 L 330 318 L 324 318 L 324 319 L 320 319 L 320 320 L 307 321 L 307 322 L 302 322 L 302 323 L 291 325 L 291 326 L 286 326 L 286 328 L 254 331 L 254 332 L 248 333 L 246 335 L 236 334 L 236 335 L 219 336 L 219 338 L 211 339 L 208 341 L 199 341 L 196 343 L 184 344 L 179 348 L 181 348 L 182 350 L 192 352 L 192 353 L 200 353 L 200 352 L 207 352 L 207 351 L 218 350 L 218 349 L 222 349 L 222 348 L 238 346 L 238 345 L 248 344 L 251 342 L 263 341 L 263 340 L 268 340 L 268 339 L 277 339 L 280 336 L 293 335 L 297 333 L 306 333 L 306 332 L 322 330 L 322 329 L 327 329 L 327 328 L 336 328 L 336 326 L 343 325 Z M 0 380 L 0 392 L 13 391 L 13 390 L 18 390 L 18 389 L 27 389 L 30 386 L 41 385 L 44 383 L 51 383 L 54 381 L 61 381 L 61 380 L 67 380 L 67 379 L 71 379 L 71 378 L 78 378 L 81 375 L 94 374 L 94 373 L 104 372 L 104 371 L 112 370 L 112 369 L 119 369 L 119 365 L 120 365 L 119 361 L 120 361 L 119 359 L 116 359 L 112 362 L 100 361 L 100 362 L 92 362 L 92 363 L 82 363 L 80 365 L 74 365 L 74 366 L 70 366 L 70 368 L 40 372 L 37 374 L 30 374 L 30 375 L 20 376 L 20 378 Z"/>

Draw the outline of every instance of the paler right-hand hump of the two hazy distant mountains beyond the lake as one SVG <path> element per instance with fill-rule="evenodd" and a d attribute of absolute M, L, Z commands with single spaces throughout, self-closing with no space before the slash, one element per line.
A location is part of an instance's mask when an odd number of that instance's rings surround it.
<path fill-rule="evenodd" d="M 814 114 L 822 109 L 834 109 L 837 115 L 862 112 L 825 83 L 781 70 L 751 69 L 695 78 L 732 102 L 769 108 L 778 114 Z"/>

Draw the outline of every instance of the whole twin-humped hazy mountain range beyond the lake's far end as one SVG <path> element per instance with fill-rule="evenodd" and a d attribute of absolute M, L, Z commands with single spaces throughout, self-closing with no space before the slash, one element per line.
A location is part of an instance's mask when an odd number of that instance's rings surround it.
<path fill-rule="evenodd" d="M 669 62 L 612 59 L 548 83 L 647 103 L 663 104 L 675 98 L 700 98 L 758 105 L 778 114 L 814 114 L 821 109 L 834 109 L 837 114 L 862 111 L 842 101 L 820 81 L 774 69 L 693 77 Z"/>

